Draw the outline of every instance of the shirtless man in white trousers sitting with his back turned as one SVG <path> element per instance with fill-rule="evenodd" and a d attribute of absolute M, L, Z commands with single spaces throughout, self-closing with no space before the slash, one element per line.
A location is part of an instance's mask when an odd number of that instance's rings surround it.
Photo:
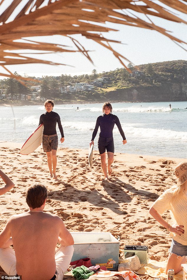
<path fill-rule="evenodd" d="M 29 187 L 29 211 L 9 218 L 1 231 L 0 265 L 8 275 L 22 276 L 22 280 L 63 279 L 74 241 L 60 217 L 43 212 L 46 199 L 45 185 Z M 55 252 L 57 243 L 61 246 Z"/>

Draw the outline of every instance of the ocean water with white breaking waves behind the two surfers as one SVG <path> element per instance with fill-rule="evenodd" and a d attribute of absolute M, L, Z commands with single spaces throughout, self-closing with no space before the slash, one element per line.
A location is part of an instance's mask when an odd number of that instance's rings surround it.
<path fill-rule="evenodd" d="M 102 114 L 103 104 L 55 105 L 60 115 L 65 142 L 59 147 L 88 149 L 96 119 Z M 76 111 L 77 106 L 79 110 Z M 187 102 L 112 103 L 113 113 L 119 117 L 127 144 L 117 126 L 113 136 L 115 151 L 140 155 L 186 158 Z M 22 143 L 37 128 L 44 106 L 1 106 L 0 142 Z M 57 133 L 60 133 L 57 126 Z M 97 138 L 94 149 L 97 150 Z"/>

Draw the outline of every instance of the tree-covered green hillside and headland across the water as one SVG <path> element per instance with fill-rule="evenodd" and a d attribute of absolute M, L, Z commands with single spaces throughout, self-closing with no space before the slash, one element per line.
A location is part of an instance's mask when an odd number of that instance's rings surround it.
<path fill-rule="evenodd" d="M 117 68 L 102 73 L 97 73 L 94 69 L 91 75 L 45 76 L 40 83 L 40 95 L 51 98 L 56 103 L 104 102 L 106 100 L 111 102 L 187 101 L 186 60 L 141 64 L 136 67 L 128 64 L 128 67 L 131 71 L 139 70 L 143 73 L 140 76 L 136 74 L 131 76 L 125 68 Z M 94 91 L 60 93 L 59 85 L 72 86 L 81 82 L 91 84 L 94 79 L 101 77 L 111 77 L 111 80 L 102 86 L 94 87 Z M 31 93 L 30 87 L 38 84 L 38 82 L 32 82 L 27 87 L 23 87 L 14 79 L 4 79 L 0 81 L 0 88 L 6 89 L 7 93 L 13 95 L 15 92 Z"/>

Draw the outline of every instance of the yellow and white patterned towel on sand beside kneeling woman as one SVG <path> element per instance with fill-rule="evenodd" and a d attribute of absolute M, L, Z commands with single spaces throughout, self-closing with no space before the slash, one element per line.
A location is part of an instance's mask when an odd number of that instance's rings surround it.
<path fill-rule="evenodd" d="M 154 261 L 149 260 L 148 264 L 141 264 L 141 268 L 135 271 L 137 274 L 148 274 L 151 277 L 164 277 L 168 278 L 168 275 L 165 274 L 167 261 Z M 174 275 L 174 280 L 183 279 L 183 270 L 179 271 L 178 274 Z"/>

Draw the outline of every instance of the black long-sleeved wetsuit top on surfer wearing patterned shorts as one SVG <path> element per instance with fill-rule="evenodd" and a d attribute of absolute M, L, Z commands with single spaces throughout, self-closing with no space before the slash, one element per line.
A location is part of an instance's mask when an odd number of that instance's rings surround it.
<path fill-rule="evenodd" d="M 43 123 L 44 131 L 43 134 L 45 135 L 54 135 L 57 133 L 56 125 L 58 123 L 58 128 L 61 133 L 61 137 L 64 137 L 63 127 L 61 125 L 60 116 L 56 112 L 46 112 L 40 116 L 39 125 Z"/>

